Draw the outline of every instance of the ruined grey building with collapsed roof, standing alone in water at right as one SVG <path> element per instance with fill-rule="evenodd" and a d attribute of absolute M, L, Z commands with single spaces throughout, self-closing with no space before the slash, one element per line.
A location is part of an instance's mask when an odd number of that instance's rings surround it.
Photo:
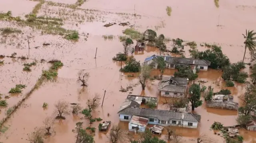
<path fill-rule="evenodd" d="M 216 94 L 206 106 L 209 108 L 220 108 L 228 110 L 238 110 L 238 103 L 233 102 L 233 96 Z"/>

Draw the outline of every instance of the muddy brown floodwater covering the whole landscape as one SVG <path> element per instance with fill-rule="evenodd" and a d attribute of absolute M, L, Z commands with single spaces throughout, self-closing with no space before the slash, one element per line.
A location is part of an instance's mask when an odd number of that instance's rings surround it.
<path fill-rule="evenodd" d="M 18 2 L 18 0 L 12 1 Z M 54 0 L 54 2 L 75 3 L 74 0 Z M 5 5 L 0 6 L 1 10 L 12 10 L 14 16 L 28 14 L 30 12 L 28 10 L 32 11 L 32 8 L 37 4 L 37 2 L 22 0 L 19 6 L 28 6 L 28 8 L 22 9 L 5 1 L 2 3 Z M 28 63 L 34 59 L 37 61 L 41 59 L 46 61 L 59 59 L 64 63 L 64 66 L 58 71 L 56 82 L 44 83 L 24 102 L 24 106 L 8 120 L 6 123 L 8 130 L 1 135 L 0 141 L 4 143 L 26 143 L 27 134 L 32 132 L 34 127 L 43 126 L 42 121 L 54 112 L 54 103 L 59 99 L 64 99 L 70 103 L 79 102 L 85 108 L 88 98 L 94 96 L 94 94 L 100 94 L 102 99 L 104 90 L 106 90 L 103 106 L 99 107 L 93 113 L 93 116 L 100 117 L 105 121 L 110 120 L 112 125 L 118 124 L 122 129 L 127 130 L 128 123 L 120 122 L 117 112 L 129 92 L 160 98 L 156 86 L 157 80 L 148 82 L 146 90 L 142 91 L 136 74 L 134 74 L 134 77 L 130 77 L 128 76 L 128 74 L 131 75 L 130 73 L 119 72 L 121 64 L 113 62 L 112 57 L 116 53 L 122 52 L 122 44 L 118 41 L 118 35 L 122 35 L 122 30 L 127 27 L 113 25 L 106 28 L 102 26 L 105 23 L 129 21 L 131 25 L 135 24 L 136 29 L 141 32 L 150 28 L 156 30 L 158 35 L 163 33 L 169 38 L 179 37 L 185 41 L 196 41 L 199 50 L 206 49 L 200 47 L 200 43 L 216 43 L 222 46 L 223 53 L 229 57 L 232 63 L 242 60 L 244 52 L 242 33 L 245 32 L 246 28 L 252 30 L 256 24 L 256 21 L 252 19 L 256 12 L 256 2 L 254 0 L 221 0 L 219 5 L 220 7 L 216 8 L 214 0 L 197 0 L 196 2 L 190 0 L 152 0 L 150 3 L 146 0 L 130 0 L 125 1 L 125 4 L 124 1 L 120 0 L 88 0 L 80 6 L 80 8 L 89 9 L 84 12 L 43 4 L 38 16 L 63 18 L 65 22 L 63 27 L 76 29 L 79 33 L 89 33 L 89 36 L 87 38 L 81 34 L 79 41 L 73 43 L 58 35 L 41 35 L 41 32 L 33 31 L 28 27 L 19 27 L 23 34 L 16 35 L 16 37 L 0 36 L 0 55 L 10 56 L 13 52 L 16 52 L 17 56 L 29 56 L 30 60 L 26 60 Z M 172 7 L 171 16 L 167 16 L 166 6 Z M 134 18 L 132 16 L 134 12 L 140 16 Z M 0 22 L 0 27 L 16 27 L 16 25 L 10 22 Z M 27 35 L 30 38 L 31 47 L 29 54 Z M 114 39 L 104 40 L 102 35 L 114 35 Z M 50 45 L 42 46 L 43 43 L 50 43 Z M 94 59 L 96 47 L 98 50 L 96 59 Z M 167 43 L 167 47 L 171 47 L 171 43 Z M 185 47 L 185 51 L 188 51 L 188 47 Z M 147 47 L 142 54 L 134 53 L 133 56 L 138 61 L 143 62 L 146 57 L 153 54 L 159 54 L 158 49 Z M 188 52 L 185 55 L 189 57 Z M 245 62 L 249 62 L 248 57 L 249 54 L 246 53 Z M 47 69 L 49 66 L 48 64 L 38 63 L 37 66 L 32 68 L 31 72 L 27 73 L 22 71 L 22 65 L 25 61 L 13 60 L 8 57 L 1 60 L 6 63 L 4 66 L 0 66 L 0 92 L 4 95 L 8 95 L 8 90 L 20 83 L 27 85 L 22 90 L 22 94 L 28 92 L 40 76 L 43 67 Z M 86 88 L 82 88 L 76 81 L 79 70 L 90 72 L 89 86 Z M 249 71 L 248 68 L 246 71 Z M 164 76 L 173 75 L 174 72 L 175 70 L 166 69 Z M 152 71 L 152 77 L 158 74 L 159 71 Z M 207 87 L 212 86 L 214 92 L 217 92 L 220 89 L 227 88 L 224 86 L 221 75 L 221 71 L 212 69 L 200 71 L 197 81 L 204 80 L 205 83 L 201 84 Z M 132 91 L 119 92 L 121 86 L 126 87 L 128 85 L 134 86 Z M 236 84 L 236 86 L 228 89 L 231 90 L 235 102 L 241 105 L 238 96 L 244 93 L 244 85 Z M 20 96 L 11 96 L 8 99 L 9 106 L 16 104 L 21 99 Z M 165 101 L 165 98 L 160 98 L 158 108 L 167 109 L 161 101 Z M 44 102 L 49 104 L 46 110 L 42 108 Z M 6 109 L 2 109 L 1 118 L 4 116 L 5 112 L 3 111 Z M 236 124 L 237 112 L 234 111 L 210 109 L 203 105 L 196 108 L 194 112 L 202 116 L 197 129 L 175 127 L 176 132 L 183 136 L 184 143 L 194 142 L 193 139 L 201 134 L 207 134 L 220 143 L 223 140 L 222 137 L 214 135 L 213 131 L 210 130 L 210 125 L 214 121 L 220 121 L 225 126 Z M 46 142 L 74 142 L 75 134 L 72 133 L 72 129 L 74 129 L 76 122 L 81 121 L 80 117 L 82 115 L 79 115 L 79 117 L 66 115 L 66 120 L 56 121 L 54 125 L 55 134 L 49 137 Z M 88 121 L 82 121 L 84 127 L 87 127 Z M 98 128 L 98 123 L 96 122 L 92 126 Z M 243 129 L 240 132 L 246 143 L 255 142 L 255 133 Z M 165 134 L 164 131 L 161 136 L 162 139 L 166 139 Z M 99 133 L 96 130 L 94 140 L 96 143 L 108 142 L 108 136 L 109 131 Z"/>

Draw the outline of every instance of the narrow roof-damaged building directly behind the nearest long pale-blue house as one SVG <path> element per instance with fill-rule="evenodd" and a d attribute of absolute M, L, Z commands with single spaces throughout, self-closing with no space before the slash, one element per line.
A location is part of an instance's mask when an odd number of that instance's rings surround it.
<path fill-rule="evenodd" d="M 139 95 L 128 95 L 126 101 L 133 100 L 138 104 L 146 104 L 147 102 L 154 101 L 157 106 L 158 98 L 156 97 L 149 97 L 149 96 L 139 96 Z"/>

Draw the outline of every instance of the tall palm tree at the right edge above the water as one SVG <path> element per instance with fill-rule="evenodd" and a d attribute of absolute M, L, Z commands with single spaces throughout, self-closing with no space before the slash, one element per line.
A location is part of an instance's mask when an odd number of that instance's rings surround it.
<path fill-rule="evenodd" d="M 255 35 L 256 35 L 256 33 L 253 30 L 252 31 L 250 31 L 250 30 L 247 31 L 247 29 L 246 29 L 246 34 L 245 35 L 243 34 L 244 39 L 245 39 L 245 41 L 244 41 L 244 45 L 245 45 L 244 57 L 245 57 L 245 53 L 246 53 L 247 48 L 249 49 L 249 51 L 251 53 L 253 53 L 256 50 L 255 49 L 256 41 L 254 41 L 254 40 L 256 40 Z M 242 63 L 244 63 L 244 58 L 243 58 Z"/>

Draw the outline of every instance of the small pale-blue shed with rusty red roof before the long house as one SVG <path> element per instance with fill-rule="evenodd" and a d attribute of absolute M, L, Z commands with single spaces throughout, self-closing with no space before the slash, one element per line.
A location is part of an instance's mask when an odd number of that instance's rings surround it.
<path fill-rule="evenodd" d="M 140 116 L 132 116 L 129 122 L 129 131 L 144 132 L 146 131 L 146 126 L 148 125 L 148 118 Z"/>

